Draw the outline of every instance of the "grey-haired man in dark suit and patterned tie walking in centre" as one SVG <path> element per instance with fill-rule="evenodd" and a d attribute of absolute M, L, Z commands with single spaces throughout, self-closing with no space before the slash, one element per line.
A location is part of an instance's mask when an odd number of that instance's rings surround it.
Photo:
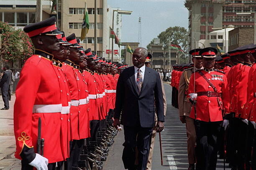
<path fill-rule="evenodd" d="M 114 126 L 124 127 L 123 164 L 128 170 L 146 170 L 155 112 L 158 117 L 157 132 L 164 129 L 164 101 L 159 73 L 145 66 L 148 52 L 136 48 L 133 65 L 120 74 L 115 101 Z M 138 165 L 135 147 L 138 148 Z M 137 169 L 136 169 L 137 168 Z"/>

